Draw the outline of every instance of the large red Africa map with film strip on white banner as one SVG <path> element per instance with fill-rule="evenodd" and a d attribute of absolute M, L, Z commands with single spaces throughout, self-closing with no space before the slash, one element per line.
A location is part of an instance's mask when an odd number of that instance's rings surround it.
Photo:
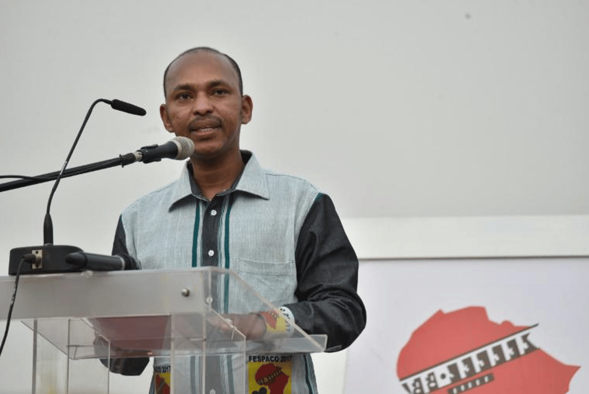
<path fill-rule="evenodd" d="M 397 376 L 410 394 L 564 394 L 580 368 L 534 343 L 535 326 L 490 321 L 484 307 L 438 311 L 399 353 Z"/>

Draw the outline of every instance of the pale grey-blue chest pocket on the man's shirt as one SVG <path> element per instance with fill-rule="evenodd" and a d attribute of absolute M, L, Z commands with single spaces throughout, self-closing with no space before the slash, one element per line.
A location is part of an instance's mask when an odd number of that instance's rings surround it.
<path fill-rule="evenodd" d="M 269 301 L 274 306 L 283 306 L 284 304 L 293 303 L 295 300 L 296 265 L 293 261 L 269 262 L 237 258 L 231 269 L 264 300 Z M 243 297 L 243 294 L 237 293 L 241 292 L 236 291 L 236 294 L 231 294 L 231 300 Z M 267 309 L 262 303 L 257 304 L 252 300 L 250 308 L 256 308 L 257 310 Z"/>

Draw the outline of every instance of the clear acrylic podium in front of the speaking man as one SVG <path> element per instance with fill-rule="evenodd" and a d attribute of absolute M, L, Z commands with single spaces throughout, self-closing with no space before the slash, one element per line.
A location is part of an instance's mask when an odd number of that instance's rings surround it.
<path fill-rule="evenodd" d="M 12 316 L 35 333 L 34 393 L 108 393 L 106 366 L 147 357 L 170 394 L 244 393 L 247 353 L 325 349 L 288 319 L 269 336 L 258 313 L 274 308 L 218 268 L 87 271 L 21 277 Z"/>

